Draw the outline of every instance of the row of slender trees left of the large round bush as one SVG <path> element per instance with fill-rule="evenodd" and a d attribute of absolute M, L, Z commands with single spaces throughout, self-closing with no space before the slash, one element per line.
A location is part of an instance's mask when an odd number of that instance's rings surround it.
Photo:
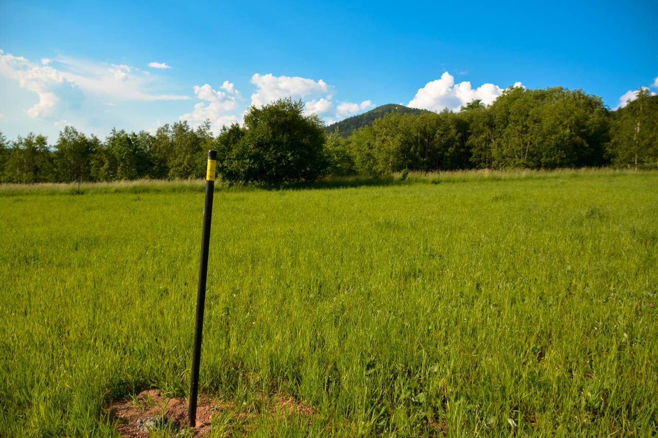
<path fill-rule="evenodd" d="M 209 122 L 196 130 L 187 122 L 166 124 L 153 134 L 113 129 L 105 141 L 66 126 L 54 145 L 43 135 L 8 142 L 0 134 L 0 182 L 201 178 L 203 151 L 213 141 Z"/>

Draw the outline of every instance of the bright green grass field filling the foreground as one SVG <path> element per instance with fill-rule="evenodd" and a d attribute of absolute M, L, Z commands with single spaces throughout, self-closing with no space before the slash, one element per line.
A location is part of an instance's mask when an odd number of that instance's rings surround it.
<path fill-rule="evenodd" d="M 220 187 L 214 435 L 657 433 L 658 173 L 483 175 Z M 203 185 L 99 187 L 0 187 L 1 437 L 188 391 Z"/>

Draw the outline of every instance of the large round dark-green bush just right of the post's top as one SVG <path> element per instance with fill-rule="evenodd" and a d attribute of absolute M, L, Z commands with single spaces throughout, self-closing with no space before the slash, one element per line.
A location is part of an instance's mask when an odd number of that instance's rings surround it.
<path fill-rule="evenodd" d="M 217 172 L 233 183 L 278 185 L 313 181 L 326 167 L 324 127 L 305 116 L 301 101 L 280 99 L 245 114 L 243 128 L 224 128 L 216 140 Z"/>

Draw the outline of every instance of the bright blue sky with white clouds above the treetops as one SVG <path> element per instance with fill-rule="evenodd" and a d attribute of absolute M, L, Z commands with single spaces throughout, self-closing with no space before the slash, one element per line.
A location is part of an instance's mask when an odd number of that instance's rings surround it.
<path fill-rule="evenodd" d="M 55 143 L 209 119 L 276 99 L 326 124 L 387 103 L 440 111 L 510 86 L 616 109 L 658 92 L 656 1 L 0 3 L 0 132 Z M 652 24 L 653 23 L 653 24 Z"/>

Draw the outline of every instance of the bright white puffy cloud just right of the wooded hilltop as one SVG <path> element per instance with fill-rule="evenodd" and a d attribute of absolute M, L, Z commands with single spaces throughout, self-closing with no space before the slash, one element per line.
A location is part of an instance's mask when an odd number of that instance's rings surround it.
<path fill-rule="evenodd" d="M 515 87 L 522 87 L 520 82 Z M 459 111 L 473 99 L 481 99 L 485 105 L 490 105 L 503 93 L 503 89 L 494 84 L 482 84 L 473 89 L 470 82 L 455 84 L 455 77 L 444 72 L 440 79 L 428 82 L 418 89 L 416 96 L 407 104 L 408 107 L 428 109 L 439 112 L 443 109 Z"/>

